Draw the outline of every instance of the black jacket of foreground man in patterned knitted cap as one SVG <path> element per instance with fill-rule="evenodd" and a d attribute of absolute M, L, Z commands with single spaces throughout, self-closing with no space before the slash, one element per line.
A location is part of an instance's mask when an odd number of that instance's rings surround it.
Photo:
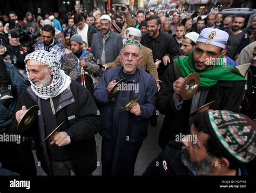
<path fill-rule="evenodd" d="M 170 141 L 163 151 L 155 158 L 142 174 L 143 176 L 188 176 L 191 171 L 181 161 L 181 142 Z M 167 169 L 164 169 L 163 162 L 166 162 Z M 241 168 L 241 175 L 248 175 L 244 166 Z"/>

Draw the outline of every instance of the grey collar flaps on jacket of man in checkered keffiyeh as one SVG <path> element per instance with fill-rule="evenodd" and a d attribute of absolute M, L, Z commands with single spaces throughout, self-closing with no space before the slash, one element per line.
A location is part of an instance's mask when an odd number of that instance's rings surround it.
<path fill-rule="evenodd" d="M 32 91 L 31 86 L 29 86 L 26 89 L 26 92 L 31 96 L 31 98 L 33 99 L 33 101 L 35 101 L 37 103 L 38 100 L 38 96 Z M 70 89 L 70 87 L 68 89 L 65 89 L 65 91 L 63 91 L 62 93 L 60 93 L 60 98 L 59 98 L 59 103 L 58 103 L 58 107 L 55 110 L 55 112 L 57 113 L 58 111 L 60 111 L 61 109 L 63 109 L 64 107 L 72 104 L 73 102 L 75 102 L 75 98 L 73 96 L 73 93 Z M 39 107 L 40 109 L 40 107 Z"/>

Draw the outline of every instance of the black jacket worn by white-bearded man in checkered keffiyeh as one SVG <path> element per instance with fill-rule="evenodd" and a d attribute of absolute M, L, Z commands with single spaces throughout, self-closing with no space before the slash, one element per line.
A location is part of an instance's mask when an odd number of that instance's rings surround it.
<path fill-rule="evenodd" d="M 38 100 L 31 87 L 28 87 L 19 96 L 15 112 L 19 111 L 23 105 L 27 109 L 33 105 L 38 105 L 36 101 L 41 100 Z M 60 131 L 65 131 L 71 139 L 71 143 L 64 146 L 64 148 L 72 162 L 76 175 L 91 174 L 97 167 L 94 135 L 99 131 L 101 119 L 97 115 L 98 109 L 90 92 L 78 82 L 72 81 L 70 89 L 66 89 L 60 94 L 57 107 L 55 111 L 58 125 L 64 121 L 64 125 Z M 43 143 L 42 146 L 39 146 L 46 137 L 42 117 L 39 114 L 37 121 L 33 123 L 29 132 L 25 132 L 24 135 L 32 135 L 34 137 L 38 161 L 41 162 L 45 173 L 52 175 L 47 145 Z M 16 130 L 16 127 L 17 121 L 15 119 L 12 123 L 12 128 Z"/>

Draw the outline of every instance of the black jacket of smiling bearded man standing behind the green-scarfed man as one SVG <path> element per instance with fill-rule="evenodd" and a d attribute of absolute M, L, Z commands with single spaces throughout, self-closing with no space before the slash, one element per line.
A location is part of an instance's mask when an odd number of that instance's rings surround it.
<path fill-rule="evenodd" d="M 163 57 L 169 56 L 171 63 L 174 56 L 179 55 L 178 46 L 171 35 L 168 33 L 160 31 L 159 36 L 156 39 L 151 39 L 149 33 L 145 33 L 142 36 L 142 45 L 149 47 L 153 51 L 154 62 L 161 60 L 162 62 L 159 65 L 157 70 L 158 76 L 163 77 L 164 72 L 169 64 L 164 66 Z M 161 79 L 161 78 L 160 78 Z"/>

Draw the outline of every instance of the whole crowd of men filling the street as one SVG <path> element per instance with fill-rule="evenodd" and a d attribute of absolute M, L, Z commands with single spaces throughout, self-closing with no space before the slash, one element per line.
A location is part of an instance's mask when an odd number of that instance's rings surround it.
<path fill-rule="evenodd" d="M 47 175 L 92 175 L 100 160 L 102 175 L 132 176 L 149 122 L 162 124 L 163 151 L 143 175 L 255 174 L 256 16 L 245 29 L 242 15 L 194 13 L 138 10 L 133 18 L 126 6 L 114 14 L 76 8 L 65 18 L 3 15 L 0 135 L 22 140 L 0 138 L 0 175 L 36 175 L 36 149 Z M 181 89 L 193 72 L 199 89 L 185 100 Z M 211 101 L 209 111 L 190 116 Z M 35 105 L 36 121 L 18 133 Z"/>

